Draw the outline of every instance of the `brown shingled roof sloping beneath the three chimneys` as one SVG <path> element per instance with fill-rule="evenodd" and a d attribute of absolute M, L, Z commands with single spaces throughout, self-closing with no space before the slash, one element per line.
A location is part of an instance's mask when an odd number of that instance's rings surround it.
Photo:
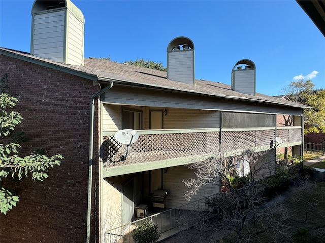
<path fill-rule="evenodd" d="M 260 93 L 256 93 L 256 95 L 239 93 L 233 91 L 230 85 L 222 84 L 219 82 L 195 79 L 196 85 L 188 85 L 168 79 L 167 73 L 164 71 L 112 62 L 105 59 L 85 58 L 84 65 L 78 66 L 62 64 L 44 58 L 35 57 L 26 52 L 20 52 L 5 48 L 0 48 L 0 54 L 73 73 L 75 75 L 83 76 L 92 80 L 98 80 L 98 82 L 112 81 L 114 83 L 122 85 L 140 86 L 155 89 L 159 88 L 172 90 L 175 92 L 185 92 L 198 95 L 201 94 L 224 99 L 259 102 L 270 105 L 276 104 L 295 108 L 311 108 L 306 105 Z"/>

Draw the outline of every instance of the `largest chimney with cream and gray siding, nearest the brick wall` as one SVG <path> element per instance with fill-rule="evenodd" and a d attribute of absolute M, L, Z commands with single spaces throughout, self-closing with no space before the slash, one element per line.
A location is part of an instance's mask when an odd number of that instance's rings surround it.
<path fill-rule="evenodd" d="M 36 0 L 31 9 L 30 54 L 83 65 L 84 23 L 82 12 L 70 0 Z"/>

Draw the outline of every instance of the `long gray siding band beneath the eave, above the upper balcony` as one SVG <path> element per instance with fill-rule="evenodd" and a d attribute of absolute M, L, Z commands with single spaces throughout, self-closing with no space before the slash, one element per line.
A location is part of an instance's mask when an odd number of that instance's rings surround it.
<path fill-rule="evenodd" d="M 218 100 L 206 96 L 174 93 L 172 91 L 131 88 L 115 85 L 105 93 L 104 102 L 137 106 L 154 106 L 161 108 L 185 108 L 200 110 L 242 111 L 269 114 L 300 115 L 301 109 L 274 107 L 256 102 L 254 105 L 243 101 Z"/>

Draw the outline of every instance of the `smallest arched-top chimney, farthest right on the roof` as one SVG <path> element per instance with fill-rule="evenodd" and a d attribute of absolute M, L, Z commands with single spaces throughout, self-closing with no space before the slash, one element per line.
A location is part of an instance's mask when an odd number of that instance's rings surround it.
<path fill-rule="evenodd" d="M 238 66 L 240 64 L 245 65 Z M 255 64 L 248 59 L 240 60 L 232 70 L 232 90 L 255 95 Z"/>

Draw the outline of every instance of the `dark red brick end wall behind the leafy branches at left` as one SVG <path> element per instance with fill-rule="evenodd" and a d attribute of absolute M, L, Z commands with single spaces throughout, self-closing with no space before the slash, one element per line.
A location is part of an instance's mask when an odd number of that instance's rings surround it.
<path fill-rule="evenodd" d="M 2 55 L 1 76 L 6 72 L 8 93 L 18 98 L 15 110 L 24 118 L 16 131 L 29 138 L 21 152 L 44 148 L 47 155 L 59 153 L 64 160 L 43 182 L 27 178 L 3 183 L 17 191 L 20 201 L 1 215 L 1 242 L 85 242 L 90 97 L 98 87 L 90 80 Z M 98 122 L 95 125 L 98 137 Z M 95 242 L 95 220 L 91 223 Z"/>

